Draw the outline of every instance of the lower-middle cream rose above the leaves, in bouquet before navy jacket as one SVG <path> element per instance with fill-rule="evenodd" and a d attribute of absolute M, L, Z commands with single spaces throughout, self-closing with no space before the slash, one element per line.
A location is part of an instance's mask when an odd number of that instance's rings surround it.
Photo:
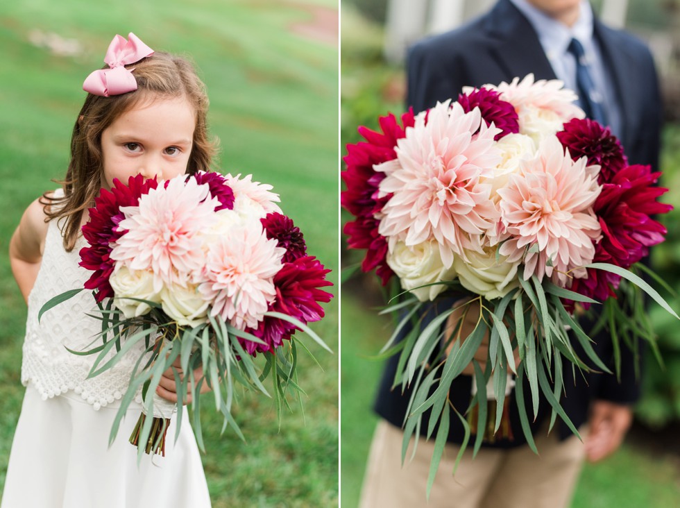
<path fill-rule="evenodd" d="M 465 251 L 465 255 L 467 260 L 454 256 L 453 267 L 466 289 L 492 300 L 519 286 L 517 267 L 520 262 L 509 263 L 500 255 L 497 260 L 495 247 L 485 247 L 483 253 Z"/>

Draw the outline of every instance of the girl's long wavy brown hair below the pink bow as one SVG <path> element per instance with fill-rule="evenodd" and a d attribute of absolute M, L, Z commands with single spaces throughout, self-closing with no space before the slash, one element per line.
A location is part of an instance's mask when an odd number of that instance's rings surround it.
<path fill-rule="evenodd" d="M 66 178 L 58 182 L 64 188 L 64 197 L 54 198 L 48 193 L 42 196 L 44 205 L 49 204 L 45 208 L 46 220 L 65 219 L 64 247 L 69 252 L 80 233 L 83 212 L 94 205 L 94 198 L 101 187 L 101 133 L 137 103 L 157 97 L 184 96 L 194 107 L 196 128 L 187 173 L 208 171 L 216 151 L 216 140 L 209 139 L 207 134 L 205 85 L 189 60 L 157 52 L 126 67 L 134 69 L 137 90 L 110 97 L 87 94 L 71 136 L 69 169 Z"/>

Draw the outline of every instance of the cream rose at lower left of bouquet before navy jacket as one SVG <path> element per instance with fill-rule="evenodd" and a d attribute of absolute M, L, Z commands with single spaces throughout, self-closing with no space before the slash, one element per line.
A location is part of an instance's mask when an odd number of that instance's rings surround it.
<path fill-rule="evenodd" d="M 432 282 L 453 280 L 456 276 L 454 269 L 447 269 L 441 261 L 439 244 L 436 242 L 407 246 L 404 242 L 397 241 L 387 253 L 387 264 L 397 274 L 402 288 L 407 290 Z M 445 285 L 438 284 L 411 292 L 418 300 L 425 302 L 434 300 L 444 289 Z"/>

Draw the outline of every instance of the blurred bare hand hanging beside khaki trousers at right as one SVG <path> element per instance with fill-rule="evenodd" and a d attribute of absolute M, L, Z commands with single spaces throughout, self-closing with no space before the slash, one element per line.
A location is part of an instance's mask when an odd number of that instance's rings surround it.
<path fill-rule="evenodd" d="M 608 457 L 621 445 L 633 421 L 630 406 L 596 400 L 590 409 L 586 457 L 597 462 Z"/>

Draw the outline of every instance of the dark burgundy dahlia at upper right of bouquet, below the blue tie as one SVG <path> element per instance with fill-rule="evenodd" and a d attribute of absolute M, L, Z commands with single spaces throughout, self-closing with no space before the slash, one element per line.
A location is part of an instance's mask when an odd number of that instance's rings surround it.
<path fill-rule="evenodd" d="M 572 119 L 557 133 L 557 139 L 569 150 L 573 160 L 587 157 L 588 165 L 600 165 L 597 183 L 611 182 L 613 175 L 628 164 L 623 147 L 611 129 L 602 127 L 595 120 Z"/>

